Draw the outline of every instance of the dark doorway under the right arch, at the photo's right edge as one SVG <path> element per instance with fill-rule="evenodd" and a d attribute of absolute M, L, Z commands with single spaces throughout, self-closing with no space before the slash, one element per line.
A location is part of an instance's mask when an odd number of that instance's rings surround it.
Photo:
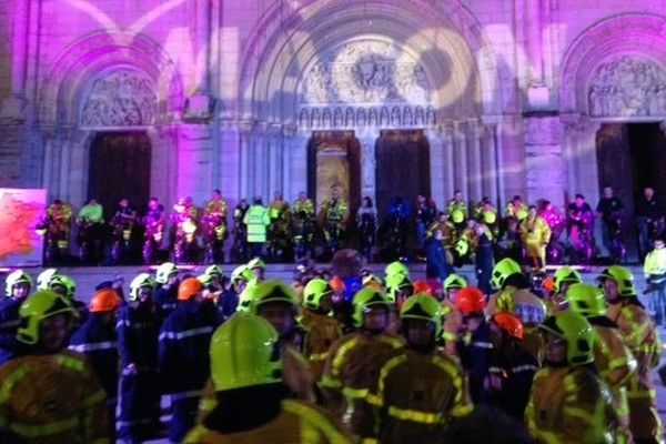
<path fill-rule="evenodd" d="M 666 135 L 659 123 L 604 123 L 596 135 L 599 191 L 613 186 L 624 203 L 628 258 L 637 258 L 636 201 L 646 186 L 666 196 Z M 596 199 L 596 200 L 595 200 Z M 596 205 L 598 196 L 587 196 Z"/>

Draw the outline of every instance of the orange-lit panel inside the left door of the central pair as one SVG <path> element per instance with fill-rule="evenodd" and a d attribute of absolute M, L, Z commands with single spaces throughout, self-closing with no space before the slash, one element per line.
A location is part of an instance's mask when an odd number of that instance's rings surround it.
<path fill-rule="evenodd" d="M 350 202 L 350 161 L 341 147 L 321 147 L 316 151 L 316 202 L 331 198 L 331 189 L 340 188 L 340 195 Z"/>

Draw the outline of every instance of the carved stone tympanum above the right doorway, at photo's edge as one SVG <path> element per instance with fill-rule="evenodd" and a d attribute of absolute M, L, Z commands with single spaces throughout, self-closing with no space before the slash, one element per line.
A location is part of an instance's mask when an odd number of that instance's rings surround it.
<path fill-rule="evenodd" d="M 652 61 L 614 59 L 598 68 L 588 100 L 594 117 L 665 115 L 666 72 Z"/>

